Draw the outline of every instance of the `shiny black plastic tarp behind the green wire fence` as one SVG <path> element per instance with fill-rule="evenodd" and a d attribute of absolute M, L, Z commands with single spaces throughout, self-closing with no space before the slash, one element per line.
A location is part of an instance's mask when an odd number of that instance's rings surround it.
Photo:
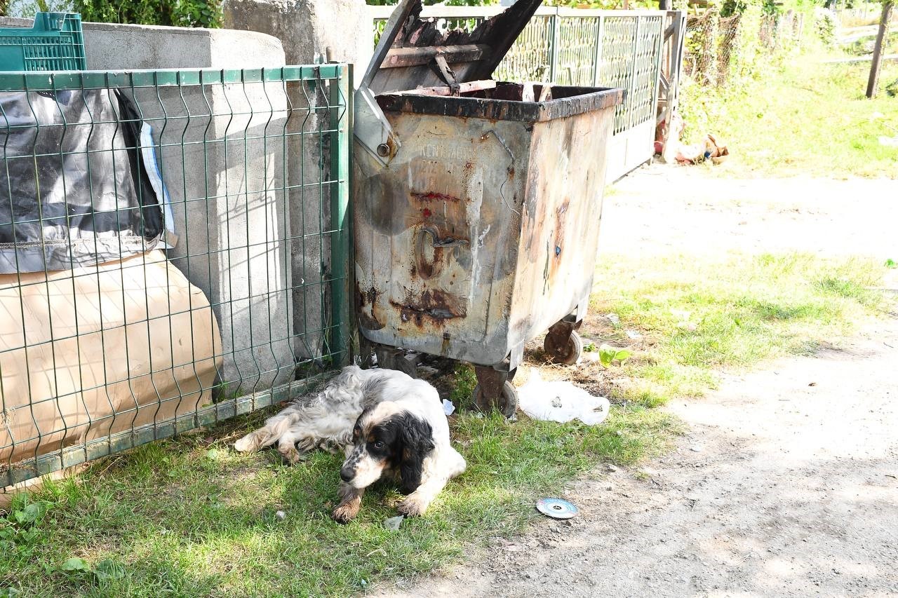
<path fill-rule="evenodd" d="M 0 93 L 0 273 L 154 249 L 163 211 L 141 159 L 141 126 L 118 91 Z"/>

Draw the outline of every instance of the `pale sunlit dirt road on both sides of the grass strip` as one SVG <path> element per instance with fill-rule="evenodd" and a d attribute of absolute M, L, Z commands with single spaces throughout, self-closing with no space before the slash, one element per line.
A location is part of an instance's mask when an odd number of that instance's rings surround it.
<path fill-rule="evenodd" d="M 650 169 L 610 198 L 603 244 L 898 259 L 894 185 Z M 837 345 L 668 406 L 689 426 L 679 449 L 643 470 L 598 464 L 565 495 L 582 509 L 569 523 L 375 594 L 898 595 L 898 318 Z"/>

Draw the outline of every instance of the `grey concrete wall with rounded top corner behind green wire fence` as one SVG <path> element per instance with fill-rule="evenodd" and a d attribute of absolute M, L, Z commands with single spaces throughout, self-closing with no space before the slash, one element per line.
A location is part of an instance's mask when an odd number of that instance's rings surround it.
<path fill-rule="evenodd" d="M 85 23 L 84 42 L 93 70 L 285 64 L 279 40 L 250 31 Z M 293 233 L 283 190 L 284 161 L 293 158 L 280 136 L 286 92 L 277 84 L 228 84 L 134 96 L 154 128 L 172 198 L 178 242 L 169 259 L 218 317 L 225 394 L 293 379 Z"/>

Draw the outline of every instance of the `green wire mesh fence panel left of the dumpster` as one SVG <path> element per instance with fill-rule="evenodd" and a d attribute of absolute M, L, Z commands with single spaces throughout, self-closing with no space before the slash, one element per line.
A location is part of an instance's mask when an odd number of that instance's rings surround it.
<path fill-rule="evenodd" d="M 277 404 L 348 363 L 350 98 L 337 64 L 0 73 L 0 251 L 123 246 L 75 218 L 156 210 L 165 228 L 119 260 L 0 273 L 0 486 Z M 29 177 L 53 214 L 22 216 Z M 63 240 L 18 247 L 35 228 Z"/>

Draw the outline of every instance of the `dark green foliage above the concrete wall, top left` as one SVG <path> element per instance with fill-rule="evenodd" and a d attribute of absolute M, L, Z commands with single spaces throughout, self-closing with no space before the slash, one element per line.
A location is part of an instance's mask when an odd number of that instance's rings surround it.
<path fill-rule="evenodd" d="M 123 22 L 172 27 L 221 27 L 221 0 L 75 0 L 85 22 Z"/>

